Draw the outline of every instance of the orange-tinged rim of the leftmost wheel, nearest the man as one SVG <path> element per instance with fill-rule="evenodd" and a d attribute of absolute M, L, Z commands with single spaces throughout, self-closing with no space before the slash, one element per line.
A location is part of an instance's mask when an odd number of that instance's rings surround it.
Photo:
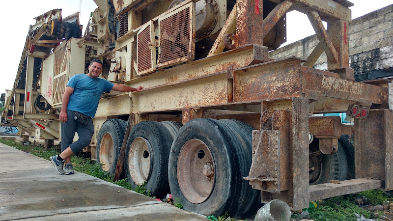
<path fill-rule="evenodd" d="M 113 139 L 109 133 L 105 133 L 100 144 L 100 163 L 104 171 L 108 171 L 113 162 Z"/>

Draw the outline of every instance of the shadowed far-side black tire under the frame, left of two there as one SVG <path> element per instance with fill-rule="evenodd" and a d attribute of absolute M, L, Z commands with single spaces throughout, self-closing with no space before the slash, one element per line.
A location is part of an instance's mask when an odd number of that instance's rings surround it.
<path fill-rule="evenodd" d="M 319 150 L 319 140 L 314 140 L 309 144 L 310 153 Z M 338 142 L 338 150 L 334 154 L 320 154 L 309 158 L 310 185 L 329 183 L 330 180 L 346 180 L 348 174 L 348 164 L 345 152 Z"/>

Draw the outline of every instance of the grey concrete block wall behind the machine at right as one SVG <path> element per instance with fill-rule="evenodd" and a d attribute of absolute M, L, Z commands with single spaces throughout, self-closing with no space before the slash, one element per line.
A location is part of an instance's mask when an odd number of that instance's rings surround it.
<path fill-rule="evenodd" d="M 355 70 L 356 81 L 393 75 L 393 4 L 352 20 L 348 32 L 349 65 Z M 269 57 L 296 56 L 306 60 L 318 42 L 312 35 L 269 52 Z M 314 68 L 326 70 L 326 60 L 323 53 Z"/>

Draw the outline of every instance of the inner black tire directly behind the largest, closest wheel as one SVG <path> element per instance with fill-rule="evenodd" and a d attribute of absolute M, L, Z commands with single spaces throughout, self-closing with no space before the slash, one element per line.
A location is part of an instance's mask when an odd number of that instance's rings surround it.
<path fill-rule="evenodd" d="M 228 135 L 236 148 L 236 156 L 241 169 L 242 184 L 236 218 L 249 218 L 262 207 L 261 192 L 253 189 L 249 181 L 243 179 L 249 175 L 253 159 L 253 127 L 235 119 L 223 119 L 219 122 L 223 122 L 228 127 L 225 130 L 230 133 Z M 222 128 L 225 127 L 222 126 Z"/>

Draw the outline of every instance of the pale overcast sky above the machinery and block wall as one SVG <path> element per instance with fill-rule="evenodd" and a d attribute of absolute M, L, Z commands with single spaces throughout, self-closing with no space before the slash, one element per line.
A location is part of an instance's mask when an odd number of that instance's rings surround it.
<path fill-rule="evenodd" d="M 350 1 L 355 4 L 355 6 L 350 8 L 352 10 L 352 19 L 393 3 L 392 0 L 373 0 L 372 3 L 370 3 L 370 0 Z M 5 93 L 6 89 L 12 89 L 23 47 L 25 46 L 26 36 L 28 35 L 28 27 L 35 23 L 33 18 L 55 8 L 62 9 L 64 18 L 78 12 L 80 8 L 80 0 L 19 0 L 11 4 L 11 7 L 0 7 L 0 18 L 2 21 L 0 61 L 3 66 L 0 93 Z M 82 0 L 80 21 L 84 27 L 87 24 L 90 12 L 93 12 L 96 7 L 93 0 Z M 288 13 L 288 42 L 294 42 L 313 34 L 311 26 L 305 24 L 309 24 L 306 15 Z"/>

